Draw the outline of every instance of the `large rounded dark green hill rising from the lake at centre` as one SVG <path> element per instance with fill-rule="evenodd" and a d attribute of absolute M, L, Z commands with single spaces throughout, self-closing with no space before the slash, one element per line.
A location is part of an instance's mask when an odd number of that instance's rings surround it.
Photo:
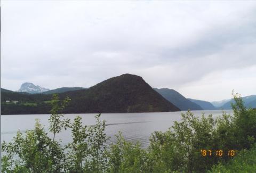
<path fill-rule="evenodd" d="M 86 90 L 60 94 L 69 96 L 68 112 L 167 112 L 180 111 L 141 77 L 125 74 L 102 81 Z"/>

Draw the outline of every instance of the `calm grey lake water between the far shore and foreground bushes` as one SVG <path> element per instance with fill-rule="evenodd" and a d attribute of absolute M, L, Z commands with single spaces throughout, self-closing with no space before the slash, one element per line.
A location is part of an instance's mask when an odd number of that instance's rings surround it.
<path fill-rule="evenodd" d="M 166 131 L 173 125 L 173 121 L 181 120 L 181 112 L 157 112 L 157 113 L 103 113 L 101 114 L 102 120 L 107 120 L 106 134 L 110 137 L 108 143 L 115 141 L 115 135 L 118 131 L 123 133 L 125 139 L 129 141 L 139 141 L 142 147 L 149 144 L 149 136 L 154 131 Z M 220 116 L 222 111 L 192 111 L 195 115 L 201 116 L 202 112 L 205 115 L 212 114 L 213 117 Z M 227 113 L 233 114 L 232 110 L 226 110 Z M 66 118 L 74 120 L 76 116 L 83 118 L 84 125 L 93 125 L 95 123 L 95 113 L 90 114 L 65 114 Z M 9 142 L 15 136 L 18 130 L 22 133 L 26 129 L 33 129 L 35 119 L 49 128 L 48 119 L 50 114 L 30 114 L 30 115 L 6 115 L 1 116 L 1 130 L 2 141 Z M 63 130 L 62 133 L 57 135 L 57 138 L 62 139 L 62 144 L 71 142 L 70 130 Z M 51 135 L 51 134 L 50 134 Z"/>

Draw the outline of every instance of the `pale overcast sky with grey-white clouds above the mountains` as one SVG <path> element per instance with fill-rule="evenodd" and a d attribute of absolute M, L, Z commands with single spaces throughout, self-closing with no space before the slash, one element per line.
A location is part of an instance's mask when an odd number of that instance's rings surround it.
<path fill-rule="evenodd" d="M 256 1 L 1 1 L 1 85 L 123 73 L 185 97 L 256 94 Z"/>

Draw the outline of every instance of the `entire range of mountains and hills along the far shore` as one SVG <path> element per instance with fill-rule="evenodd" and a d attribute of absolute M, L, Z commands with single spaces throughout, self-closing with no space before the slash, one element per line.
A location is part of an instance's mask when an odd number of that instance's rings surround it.
<path fill-rule="evenodd" d="M 135 90 L 137 94 L 134 94 Z M 68 112 L 71 113 L 93 113 L 97 111 L 95 109 L 97 106 L 99 112 L 105 113 L 109 113 L 109 111 L 162 112 L 178 110 L 187 111 L 188 109 L 221 110 L 231 109 L 231 103 L 234 103 L 234 100 L 231 99 L 218 102 L 207 102 L 186 98 L 174 89 L 151 88 L 141 77 L 130 74 L 124 74 L 121 76 L 107 79 L 90 88 L 61 87 L 50 90 L 38 85 L 34 85 L 32 83 L 24 83 L 21 85 L 21 88 L 17 92 L 1 88 L 1 93 L 2 103 L 5 103 L 5 105 L 2 105 L 2 108 L 5 109 L 4 112 L 9 111 L 9 113 L 11 113 L 12 111 L 10 112 L 10 110 L 15 110 L 16 108 L 14 107 L 19 105 L 20 114 L 24 112 L 27 112 L 28 114 L 31 112 L 48 113 L 46 112 L 46 110 L 50 109 L 49 105 L 45 105 L 44 102 L 48 102 L 49 100 L 51 100 L 51 95 L 54 93 L 58 93 L 62 98 L 64 96 L 70 96 L 71 98 L 73 98 L 74 101 L 71 101 L 71 105 L 73 105 L 74 107 L 68 108 Z M 159 96 L 161 96 L 161 98 Z M 245 96 L 242 97 L 242 99 L 247 108 L 256 108 L 256 95 Z M 159 101 L 159 104 L 156 104 L 156 100 Z M 19 104 L 11 105 L 11 103 L 17 101 L 19 101 Z M 142 101 L 144 103 L 142 103 Z M 112 103 L 110 104 L 109 102 Z M 108 106 L 103 109 L 106 103 L 108 104 Z M 22 104 L 27 105 L 26 108 Z M 28 105 L 34 105 L 33 111 L 29 112 L 30 107 Z M 35 105 L 40 105 L 42 107 L 42 110 L 38 112 L 36 109 L 40 109 L 41 107 L 39 108 L 39 106 L 36 107 Z M 85 108 L 88 105 L 91 105 L 92 108 Z M 217 105 L 217 107 L 214 105 Z M 124 109 L 124 107 L 126 109 Z M 76 108 L 77 110 L 75 110 L 74 108 Z M 28 109 L 28 111 L 26 111 L 26 109 Z"/>

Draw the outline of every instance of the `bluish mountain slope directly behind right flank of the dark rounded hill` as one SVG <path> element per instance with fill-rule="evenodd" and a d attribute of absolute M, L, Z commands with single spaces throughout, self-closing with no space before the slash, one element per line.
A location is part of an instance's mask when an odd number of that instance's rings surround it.
<path fill-rule="evenodd" d="M 167 101 L 173 103 L 182 111 L 187 111 L 188 109 L 203 110 L 201 106 L 189 101 L 187 98 L 185 98 L 183 95 L 181 95 L 174 89 L 169 89 L 169 88 L 161 88 L 161 89 L 154 88 L 154 89 L 156 90 L 156 92 L 161 94 L 164 98 L 166 98 Z"/>

